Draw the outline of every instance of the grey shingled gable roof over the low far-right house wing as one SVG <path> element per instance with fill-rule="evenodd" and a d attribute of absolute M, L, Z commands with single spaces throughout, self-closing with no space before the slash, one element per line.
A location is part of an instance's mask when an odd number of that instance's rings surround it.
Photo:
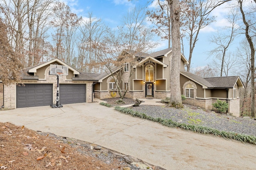
<path fill-rule="evenodd" d="M 212 77 L 204 79 L 210 82 L 215 88 L 234 88 L 236 83 L 238 86 L 242 86 L 244 88 L 244 84 L 239 76 Z"/>

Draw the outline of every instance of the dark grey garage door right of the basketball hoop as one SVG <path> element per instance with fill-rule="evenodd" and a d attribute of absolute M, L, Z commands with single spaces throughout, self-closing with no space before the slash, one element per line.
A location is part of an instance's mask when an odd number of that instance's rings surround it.
<path fill-rule="evenodd" d="M 60 84 L 60 104 L 86 102 L 86 84 Z"/>

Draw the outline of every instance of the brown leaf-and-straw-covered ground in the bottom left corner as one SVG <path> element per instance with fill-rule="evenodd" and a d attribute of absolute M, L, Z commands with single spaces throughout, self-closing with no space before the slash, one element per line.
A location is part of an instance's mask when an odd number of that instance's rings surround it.
<path fill-rule="evenodd" d="M 120 166 L 120 164 L 119 164 Z M 48 135 L 0 122 L 0 169 L 6 170 L 116 170 L 118 161 L 106 164 L 95 156 Z"/>

